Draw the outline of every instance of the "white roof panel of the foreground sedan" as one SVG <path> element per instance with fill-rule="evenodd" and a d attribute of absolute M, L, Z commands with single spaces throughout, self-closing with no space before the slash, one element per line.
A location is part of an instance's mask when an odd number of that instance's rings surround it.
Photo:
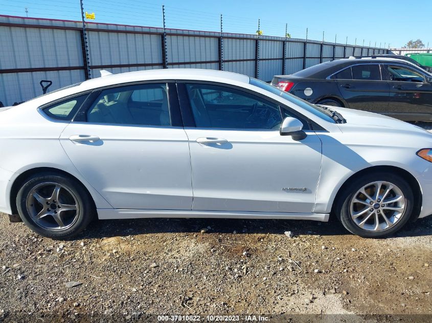
<path fill-rule="evenodd" d="M 233 72 L 197 68 L 167 68 L 111 74 L 85 81 L 80 87 L 84 90 L 115 84 L 153 80 L 200 80 L 219 81 L 223 83 L 226 83 L 226 81 L 249 83 L 249 77 Z"/>

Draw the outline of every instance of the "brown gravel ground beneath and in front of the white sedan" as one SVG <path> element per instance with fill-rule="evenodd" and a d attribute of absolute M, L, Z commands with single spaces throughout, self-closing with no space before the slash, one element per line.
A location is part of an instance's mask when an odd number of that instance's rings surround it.
<path fill-rule="evenodd" d="M 137 219 L 54 241 L 0 214 L 0 266 L 0 321 L 432 321 L 432 217 L 387 239 L 334 220 Z"/>

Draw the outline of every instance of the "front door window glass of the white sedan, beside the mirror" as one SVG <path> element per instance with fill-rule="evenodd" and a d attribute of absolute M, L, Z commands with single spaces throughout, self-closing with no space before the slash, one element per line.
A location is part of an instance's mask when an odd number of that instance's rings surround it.
<path fill-rule="evenodd" d="M 279 129 L 277 104 L 237 89 L 210 84 L 186 85 L 196 127 Z"/>

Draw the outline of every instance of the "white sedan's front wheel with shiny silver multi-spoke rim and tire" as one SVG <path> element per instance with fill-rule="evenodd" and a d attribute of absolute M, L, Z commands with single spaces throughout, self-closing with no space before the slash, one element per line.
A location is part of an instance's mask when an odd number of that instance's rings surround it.
<path fill-rule="evenodd" d="M 379 183 L 381 189 L 376 198 Z M 385 191 L 391 186 L 394 188 L 384 196 Z M 365 187 L 363 191 L 374 201 L 370 201 L 367 195 L 360 192 Z M 379 197 L 384 198 L 381 201 Z M 390 203 L 391 201 L 397 202 Z M 391 172 L 371 172 L 354 179 L 342 188 L 342 194 L 335 203 L 334 211 L 349 232 L 363 238 L 383 238 L 396 233 L 405 225 L 413 214 L 413 206 L 413 190 L 403 178 Z M 366 219 L 370 213 L 372 215 Z M 357 217 L 358 214 L 361 215 Z M 365 219 L 366 222 L 363 222 Z"/>

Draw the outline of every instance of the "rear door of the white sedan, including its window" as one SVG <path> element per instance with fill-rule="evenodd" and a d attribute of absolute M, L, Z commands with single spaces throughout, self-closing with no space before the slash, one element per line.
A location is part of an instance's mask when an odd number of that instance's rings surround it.
<path fill-rule="evenodd" d="M 189 143 L 172 106 L 166 83 L 105 89 L 84 122 L 61 134 L 66 154 L 113 208 L 192 208 Z"/>

